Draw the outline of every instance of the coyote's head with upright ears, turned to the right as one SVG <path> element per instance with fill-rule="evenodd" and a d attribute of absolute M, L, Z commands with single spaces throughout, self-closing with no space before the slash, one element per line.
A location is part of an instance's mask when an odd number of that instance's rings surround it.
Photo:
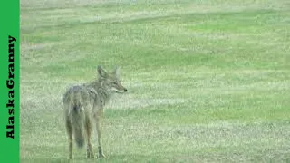
<path fill-rule="evenodd" d="M 121 85 L 120 80 L 120 67 L 116 67 L 113 72 L 106 72 L 102 66 L 98 66 L 97 72 L 99 80 L 102 82 L 102 87 L 111 92 L 123 93 L 127 89 Z"/>

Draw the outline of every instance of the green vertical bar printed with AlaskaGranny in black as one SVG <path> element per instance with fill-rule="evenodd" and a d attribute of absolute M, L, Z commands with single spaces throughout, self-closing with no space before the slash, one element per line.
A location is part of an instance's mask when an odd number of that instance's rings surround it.
<path fill-rule="evenodd" d="M 20 157 L 19 7 L 19 0 L 0 3 L 0 162 L 11 163 Z"/>

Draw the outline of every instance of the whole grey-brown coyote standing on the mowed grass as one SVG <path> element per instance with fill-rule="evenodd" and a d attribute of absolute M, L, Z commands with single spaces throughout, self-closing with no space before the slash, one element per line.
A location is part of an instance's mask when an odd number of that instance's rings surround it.
<path fill-rule="evenodd" d="M 69 137 L 69 158 L 73 158 L 73 136 L 76 145 L 82 148 L 87 143 L 87 158 L 94 158 L 91 144 L 92 122 L 94 120 L 97 135 L 99 158 L 105 158 L 102 152 L 102 114 L 113 92 L 123 93 L 127 89 L 121 85 L 120 68 L 106 72 L 97 67 L 98 78 L 94 82 L 70 87 L 63 94 L 65 126 Z"/>

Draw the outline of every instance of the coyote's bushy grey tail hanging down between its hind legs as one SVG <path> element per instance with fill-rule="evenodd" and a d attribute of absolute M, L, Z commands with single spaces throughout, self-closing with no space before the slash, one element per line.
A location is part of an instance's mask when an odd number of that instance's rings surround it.
<path fill-rule="evenodd" d="M 84 112 L 81 105 L 73 105 L 71 110 L 71 120 L 73 125 L 74 140 L 78 148 L 84 145 Z"/>

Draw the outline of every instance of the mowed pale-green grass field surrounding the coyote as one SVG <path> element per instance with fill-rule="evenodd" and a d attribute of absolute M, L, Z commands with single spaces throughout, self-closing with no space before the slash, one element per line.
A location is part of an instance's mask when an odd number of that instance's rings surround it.
<path fill-rule="evenodd" d="M 287 0 L 22 0 L 21 162 L 68 161 L 61 98 L 99 64 L 129 92 L 73 162 L 290 161 Z"/>

